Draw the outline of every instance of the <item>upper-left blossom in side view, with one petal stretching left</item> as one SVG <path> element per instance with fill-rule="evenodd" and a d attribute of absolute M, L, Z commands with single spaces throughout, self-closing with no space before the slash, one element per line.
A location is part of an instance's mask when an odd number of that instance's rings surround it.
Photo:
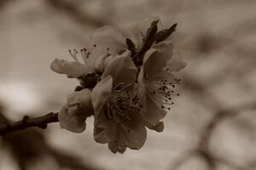
<path fill-rule="evenodd" d="M 68 77 L 83 77 L 88 74 L 102 73 L 109 56 L 115 56 L 125 49 L 125 37 L 111 26 L 103 26 L 97 29 L 90 36 L 89 48 L 81 49 L 82 59 L 80 62 L 77 50 L 69 53 L 74 61 L 65 59 L 55 59 L 50 68 L 60 74 L 66 74 Z"/>

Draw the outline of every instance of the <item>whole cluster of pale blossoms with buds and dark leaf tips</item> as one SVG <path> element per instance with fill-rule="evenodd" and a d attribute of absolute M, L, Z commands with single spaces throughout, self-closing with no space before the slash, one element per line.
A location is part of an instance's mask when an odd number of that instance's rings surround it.
<path fill-rule="evenodd" d="M 185 67 L 169 37 L 176 24 L 163 29 L 158 17 L 131 26 L 126 35 L 103 26 L 90 36 L 88 48 L 69 51 L 74 61 L 55 59 L 50 68 L 80 85 L 59 113 L 62 128 L 82 133 L 94 116 L 94 139 L 113 153 L 140 149 L 146 127 L 161 132 L 163 118 L 178 96 L 174 71 Z"/>

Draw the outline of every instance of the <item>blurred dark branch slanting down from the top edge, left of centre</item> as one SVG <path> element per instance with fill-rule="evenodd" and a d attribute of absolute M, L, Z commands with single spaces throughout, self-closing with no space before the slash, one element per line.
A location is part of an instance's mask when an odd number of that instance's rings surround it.
<path fill-rule="evenodd" d="M 72 1 L 63 1 L 63 0 L 46 0 L 51 7 L 55 9 L 59 9 L 61 12 L 68 14 L 81 24 L 82 26 L 104 26 L 106 23 L 102 20 L 96 19 L 95 17 L 90 16 L 90 14 L 86 14 L 84 11 L 80 11 L 78 6 Z"/>

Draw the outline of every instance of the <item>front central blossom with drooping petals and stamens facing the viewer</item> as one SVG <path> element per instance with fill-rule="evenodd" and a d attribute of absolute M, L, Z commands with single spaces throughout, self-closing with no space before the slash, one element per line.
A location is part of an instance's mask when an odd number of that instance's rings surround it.
<path fill-rule="evenodd" d="M 119 55 L 106 66 L 102 81 L 92 90 L 95 111 L 94 138 L 116 153 L 126 147 L 140 149 L 147 136 L 137 104 L 137 67 L 130 52 Z"/>

